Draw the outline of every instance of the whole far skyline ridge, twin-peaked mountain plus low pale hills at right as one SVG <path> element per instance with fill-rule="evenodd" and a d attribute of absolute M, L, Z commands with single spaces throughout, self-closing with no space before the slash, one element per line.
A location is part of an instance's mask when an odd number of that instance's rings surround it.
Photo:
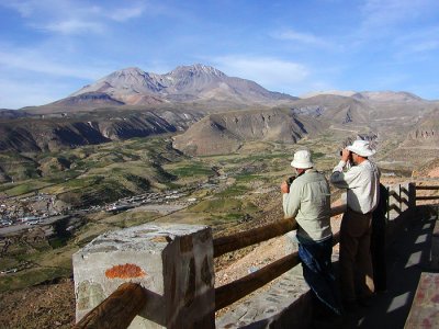
<path fill-rule="evenodd" d="M 315 98 L 345 97 L 367 102 L 369 105 L 389 103 L 420 103 L 426 101 L 406 91 L 316 91 L 302 98 L 269 91 L 255 81 L 228 77 L 221 70 L 202 64 L 178 66 L 159 75 L 146 72 L 138 67 L 128 67 L 87 84 L 68 97 L 41 106 L 21 109 L 34 114 L 80 112 L 100 109 L 125 110 L 130 106 L 155 106 L 198 103 L 210 106 L 207 112 L 225 106 L 268 107 L 307 102 Z"/>

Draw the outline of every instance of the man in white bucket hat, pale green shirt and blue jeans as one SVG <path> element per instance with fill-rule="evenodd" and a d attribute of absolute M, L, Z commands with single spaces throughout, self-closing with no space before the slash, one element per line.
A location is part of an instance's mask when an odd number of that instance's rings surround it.
<path fill-rule="evenodd" d="M 330 229 L 330 190 L 325 175 L 314 169 L 308 150 L 294 154 L 291 167 L 297 177 L 291 185 L 283 182 L 283 211 L 285 218 L 294 217 L 299 224 L 296 239 L 303 276 L 314 293 L 316 309 L 313 319 L 335 320 L 342 313 L 339 290 L 333 271 L 333 232 Z"/>

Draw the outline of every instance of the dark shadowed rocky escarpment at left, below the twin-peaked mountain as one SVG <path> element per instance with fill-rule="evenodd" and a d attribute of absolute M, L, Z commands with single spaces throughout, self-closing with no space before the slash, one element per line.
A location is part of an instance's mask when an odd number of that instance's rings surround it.
<path fill-rule="evenodd" d="M 86 117 L 26 118 L 0 122 L 0 151 L 52 151 L 184 131 L 204 113 L 176 111 L 116 113 Z"/>

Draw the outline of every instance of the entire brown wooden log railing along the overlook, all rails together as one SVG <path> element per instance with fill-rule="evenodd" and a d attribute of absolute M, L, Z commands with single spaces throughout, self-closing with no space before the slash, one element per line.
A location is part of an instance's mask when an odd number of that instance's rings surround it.
<path fill-rule="evenodd" d="M 396 215 L 398 215 L 414 206 L 416 200 L 439 200 L 439 196 L 416 196 L 413 185 L 409 188 L 398 185 L 395 188 L 397 192 L 389 191 L 387 219 L 390 219 L 389 212 L 396 211 Z M 439 190 L 439 186 L 416 186 L 416 190 Z M 392 202 L 390 202 L 391 198 Z M 331 216 L 342 214 L 345 211 L 346 205 L 333 207 Z M 294 230 L 296 227 L 297 224 L 294 218 L 286 218 L 247 231 L 218 237 L 213 240 L 213 256 L 217 258 L 227 252 L 267 241 Z M 338 243 L 338 240 L 339 235 L 336 234 L 334 245 Z M 241 279 L 216 287 L 215 310 L 222 309 L 262 287 L 297 265 L 299 262 L 297 252 L 293 252 Z M 125 283 L 88 313 L 75 328 L 126 328 L 146 305 L 147 292 L 140 285 Z"/>

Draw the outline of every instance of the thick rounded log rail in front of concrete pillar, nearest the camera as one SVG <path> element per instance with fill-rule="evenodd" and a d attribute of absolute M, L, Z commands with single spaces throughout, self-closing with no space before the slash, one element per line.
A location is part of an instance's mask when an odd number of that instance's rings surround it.
<path fill-rule="evenodd" d="M 74 328 L 127 328 L 145 305 L 145 288 L 126 282 L 90 310 Z"/>

